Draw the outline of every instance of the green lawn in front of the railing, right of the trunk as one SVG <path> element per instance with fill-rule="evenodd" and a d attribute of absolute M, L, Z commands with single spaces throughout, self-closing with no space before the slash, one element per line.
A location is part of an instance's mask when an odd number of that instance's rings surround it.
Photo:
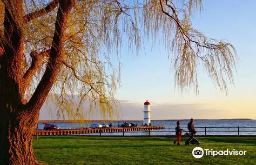
<path fill-rule="evenodd" d="M 245 156 L 194 158 L 196 145 L 173 145 L 174 138 L 40 137 L 36 158 L 48 165 L 256 165 L 256 138 L 199 137 L 200 147 L 246 150 Z"/>

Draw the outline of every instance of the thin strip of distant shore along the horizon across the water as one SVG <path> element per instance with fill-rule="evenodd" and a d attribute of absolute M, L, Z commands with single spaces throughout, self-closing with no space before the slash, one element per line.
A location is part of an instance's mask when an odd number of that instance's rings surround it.
<path fill-rule="evenodd" d="M 162 120 L 151 120 L 151 121 L 186 121 L 190 119 L 162 119 Z M 254 119 L 194 119 L 196 120 L 254 120 Z M 143 120 L 39 120 L 38 123 L 84 123 L 84 122 L 141 122 Z"/>

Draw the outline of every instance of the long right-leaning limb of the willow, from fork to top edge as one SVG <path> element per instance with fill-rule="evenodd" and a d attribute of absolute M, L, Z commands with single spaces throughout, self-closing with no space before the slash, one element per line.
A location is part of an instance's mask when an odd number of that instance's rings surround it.
<path fill-rule="evenodd" d="M 71 9 L 74 7 L 74 0 L 61 0 L 56 16 L 55 32 L 51 47 L 51 52 L 47 62 L 45 73 L 40 80 L 34 94 L 26 105 L 26 109 L 40 109 L 45 102 L 54 82 L 61 69 L 64 56 L 64 42 L 66 38 L 67 20 Z"/>

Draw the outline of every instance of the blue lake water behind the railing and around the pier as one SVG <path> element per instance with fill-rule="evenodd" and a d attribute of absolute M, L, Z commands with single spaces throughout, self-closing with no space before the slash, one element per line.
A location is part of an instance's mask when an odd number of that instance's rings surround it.
<path fill-rule="evenodd" d="M 75 128 L 88 128 L 91 124 L 102 124 L 101 122 L 92 122 L 92 123 L 50 123 L 60 126 L 61 129 L 75 129 Z M 141 125 L 142 121 L 135 121 Z M 187 130 L 187 125 L 189 120 L 182 120 L 181 126 Z M 113 122 L 113 126 L 117 127 L 118 122 Z M 121 125 L 122 122 L 119 122 Z M 175 126 L 176 121 L 152 121 L 152 125 L 164 125 L 166 128 L 164 130 L 151 130 L 151 135 L 175 135 Z M 207 135 L 238 135 L 238 126 L 240 135 L 256 135 L 256 120 L 195 120 L 194 121 L 195 129 L 197 135 L 204 135 L 205 128 L 207 130 Z M 43 123 L 39 123 L 39 129 L 42 129 L 44 126 Z M 198 128 L 203 127 L 203 128 Z M 220 128 L 208 128 L 208 127 L 220 127 Z M 234 127 L 234 128 L 225 128 L 225 127 Z M 243 128 L 243 127 L 255 127 L 255 128 Z M 229 132 L 227 132 L 229 131 Z M 234 132 L 232 132 L 234 131 Z M 245 132 L 243 132 L 245 131 Z M 148 131 L 136 131 L 136 132 L 125 132 L 125 135 L 148 135 Z M 182 133 L 184 134 L 184 133 Z M 85 135 L 99 135 L 99 133 L 90 133 Z M 102 132 L 104 135 L 123 135 L 123 132 Z"/>

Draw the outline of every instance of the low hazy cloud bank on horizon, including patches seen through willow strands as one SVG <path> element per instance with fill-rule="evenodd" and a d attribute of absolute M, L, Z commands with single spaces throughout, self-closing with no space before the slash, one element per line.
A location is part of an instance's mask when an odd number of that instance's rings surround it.
<path fill-rule="evenodd" d="M 143 120 L 143 103 L 120 100 L 119 120 Z M 40 119 L 57 119 L 56 110 L 51 105 L 50 112 L 46 105 L 40 111 Z M 86 107 L 85 107 L 86 109 Z M 230 110 L 223 110 L 214 104 L 152 104 L 151 119 L 223 119 L 233 118 Z M 52 117 L 51 117 L 52 115 Z M 99 112 L 94 112 L 89 119 L 101 119 Z"/>

